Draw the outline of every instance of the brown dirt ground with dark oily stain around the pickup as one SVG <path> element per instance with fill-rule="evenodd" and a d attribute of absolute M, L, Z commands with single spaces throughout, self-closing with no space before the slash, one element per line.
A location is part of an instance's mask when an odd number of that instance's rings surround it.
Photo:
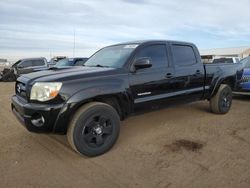
<path fill-rule="evenodd" d="M 13 87 L 0 83 L 0 187 L 250 187 L 249 97 L 227 115 L 198 102 L 130 117 L 110 152 L 86 158 L 65 136 L 27 132 Z"/>

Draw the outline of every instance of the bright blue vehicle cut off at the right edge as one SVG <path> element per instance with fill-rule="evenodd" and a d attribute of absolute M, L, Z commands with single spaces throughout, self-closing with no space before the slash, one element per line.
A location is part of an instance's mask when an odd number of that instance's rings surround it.
<path fill-rule="evenodd" d="M 242 59 L 240 64 L 243 67 L 243 74 L 235 94 L 250 95 L 250 56 Z"/>

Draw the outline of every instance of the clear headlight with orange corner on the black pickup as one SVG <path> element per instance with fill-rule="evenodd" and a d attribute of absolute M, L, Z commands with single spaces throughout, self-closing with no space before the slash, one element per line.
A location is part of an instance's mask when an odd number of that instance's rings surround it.
<path fill-rule="evenodd" d="M 31 88 L 30 100 L 48 101 L 55 98 L 62 83 L 60 82 L 36 82 Z"/>

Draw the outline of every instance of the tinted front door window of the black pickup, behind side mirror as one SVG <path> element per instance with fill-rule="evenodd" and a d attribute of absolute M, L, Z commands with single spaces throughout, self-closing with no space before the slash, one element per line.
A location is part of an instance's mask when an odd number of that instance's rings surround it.
<path fill-rule="evenodd" d="M 167 65 L 167 52 L 166 46 L 159 44 L 159 45 L 152 45 L 146 46 L 139 50 L 139 52 L 135 56 L 135 60 L 139 58 L 151 58 L 152 60 L 152 67 L 163 67 Z"/>

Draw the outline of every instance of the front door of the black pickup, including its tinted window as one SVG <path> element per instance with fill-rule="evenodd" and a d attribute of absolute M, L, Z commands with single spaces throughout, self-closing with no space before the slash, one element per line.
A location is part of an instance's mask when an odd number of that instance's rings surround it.
<path fill-rule="evenodd" d="M 147 57 L 151 59 L 152 67 L 130 74 L 130 88 L 135 104 L 165 98 L 165 94 L 172 91 L 174 69 L 169 67 L 168 56 L 166 43 L 150 44 L 138 49 L 133 63 Z"/>

